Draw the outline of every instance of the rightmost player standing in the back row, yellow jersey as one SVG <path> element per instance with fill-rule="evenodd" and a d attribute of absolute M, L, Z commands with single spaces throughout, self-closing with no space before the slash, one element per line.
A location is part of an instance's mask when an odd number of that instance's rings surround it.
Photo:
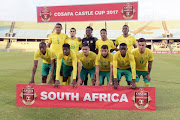
<path fill-rule="evenodd" d="M 126 43 L 128 51 L 131 52 L 133 46 L 134 46 L 134 48 L 137 47 L 136 39 L 133 36 L 131 36 L 130 34 L 128 34 L 129 33 L 129 26 L 128 25 L 123 26 L 122 32 L 123 32 L 123 35 L 116 38 L 115 45 L 117 47 L 121 43 Z"/>

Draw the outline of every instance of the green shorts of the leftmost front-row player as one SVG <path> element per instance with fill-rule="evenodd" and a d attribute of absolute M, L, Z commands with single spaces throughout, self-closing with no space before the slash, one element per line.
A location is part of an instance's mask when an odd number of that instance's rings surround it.
<path fill-rule="evenodd" d="M 42 62 L 41 75 L 42 76 L 47 76 L 49 74 L 49 71 L 51 72 L 51 63 Z M 56 76 L 56 63 L 55 63 L 53 76 Z"/>

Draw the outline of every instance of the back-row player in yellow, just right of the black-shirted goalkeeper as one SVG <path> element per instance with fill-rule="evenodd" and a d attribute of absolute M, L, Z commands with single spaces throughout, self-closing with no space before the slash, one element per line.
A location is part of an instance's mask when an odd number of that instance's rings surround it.
<path fill-rule="evenodd" d="M 101 39 L 96 41 L 96 52 L 100 53 L 101 52 L 101 47 L 103 45 L 107 45 L 108 49 L 109 49 L 109 52 L 113 52 L 116 47 L 114 46 L 113 41 L 111 41 L 111 40 L 109 40 L 107 38 L 106 29 L 101 29 L 100 34 L 101 34 Z"/>

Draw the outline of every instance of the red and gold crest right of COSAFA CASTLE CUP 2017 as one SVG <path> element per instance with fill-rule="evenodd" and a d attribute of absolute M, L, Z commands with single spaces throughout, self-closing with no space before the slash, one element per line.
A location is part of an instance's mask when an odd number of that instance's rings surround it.
<path fill-rule="evenodd" d="M 134 13 L 135 13 L 135 9 L 133 5 L 130 5 L 129 3 L 127 3 L 127 5 L 123 6 L 122 14 L 125 19 L 131 19 Z"/>

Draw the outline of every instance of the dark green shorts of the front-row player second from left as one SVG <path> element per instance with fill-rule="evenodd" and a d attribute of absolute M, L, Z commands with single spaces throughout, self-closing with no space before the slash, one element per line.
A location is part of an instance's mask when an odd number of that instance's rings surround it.
<path fill-rule="evenodd" d="M 63 66 L 62 66 L 61 70 L 62 70 L 62 73 L 63 73 L 63 77 L 69 77 L 69 76 L 71 76 L 73 67 L 72 66 L 68 66 L 68 65 L 63 63 Z"/>

